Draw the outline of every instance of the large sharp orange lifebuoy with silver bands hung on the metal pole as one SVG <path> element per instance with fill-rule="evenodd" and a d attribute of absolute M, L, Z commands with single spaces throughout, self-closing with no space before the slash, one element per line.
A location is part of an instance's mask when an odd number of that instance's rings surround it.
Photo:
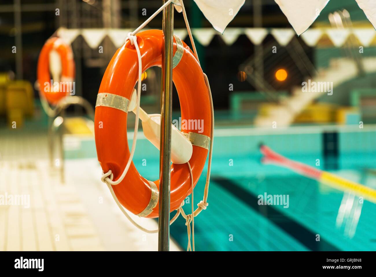
<path fill-rule="evenodd" d="M 162 46 L 161 30 L 147 30 L 136 35 L 141 52 L 142 71 L 160 66 Z M 202 120 L 203 129 L 188 124 L 183 134 L 193 144 L 189 161 L 193 184 L 196 185 L 208 155 L 211 135 L 211 104 L 208 87 L 199 62 L 180 38 L 173 43 L 173 82 L 180 100 L 183 120 Z M 127 105 L 138 80 L 138 56 L 127 41 L 112 57 L 100 84 L 95 112 L 95 140 L 98 160 L 103 172 L 112 171 L 113 180 L 123 172 L 130 156 L 127 141 Z M 191 128 L 191 129 L 190 129 Z M 159 180 L 148 181 L 131 163 L 125 178 L 112 186 L 119 202 L 130 212 L 148 218 L 158 217 Z M 191 193 L 188 164 L 171 165 L 170 209 L 176 210 Z"/>

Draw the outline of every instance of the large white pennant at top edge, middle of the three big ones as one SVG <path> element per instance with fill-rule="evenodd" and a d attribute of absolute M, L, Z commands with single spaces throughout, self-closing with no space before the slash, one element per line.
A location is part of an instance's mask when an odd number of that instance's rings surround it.
<path fill-rule="evenodd" d="M 329 0 L 274 0 L 300 35 L 312 25 Z"/>

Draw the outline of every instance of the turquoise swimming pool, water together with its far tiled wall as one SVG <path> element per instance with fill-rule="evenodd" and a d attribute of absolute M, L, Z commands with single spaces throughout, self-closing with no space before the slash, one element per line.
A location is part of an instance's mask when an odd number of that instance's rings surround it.
<path fill-rule="evenodd" d="M 331 172 L 376 189 L 373 170 L 376 127 L 336 131 L 337 169 Z M 209 206 L 195 218 L 196 250 L 376 250 L 376 204 L 367 200 L 358 204 L 358 196 L 288 169 L 260 163 L 258 145 L 262 142 L 288 158 L 311 166 L 317 166 L 318 159 L 318 168 L 326 169 L 322 134 L 321 128 L 217 131 Z M 158 179 L 159 151 L 142 135 L 133 162 L 145 178 Z M 205 170 L 194 190 L 195 208 L 202 200 Z M 258 196 L 264 193 L 288 195 L 288 208 L 259 205 Z M 343 202 L 348 196 L 348 201 Z M 341 206 L 341 203 L 347 205 Z M 183 208 L 191 213 L 190 202 Z M 344 213 L 342 217 L 341 213 Z M 171 226 L 171 236 L 183 249 L 187 245 L 186 232 L 185 220 L 179 217 Z"/>

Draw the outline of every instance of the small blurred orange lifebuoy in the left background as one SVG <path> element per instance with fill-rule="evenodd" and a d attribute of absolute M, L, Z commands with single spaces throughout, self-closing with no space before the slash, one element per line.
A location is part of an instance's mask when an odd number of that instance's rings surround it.
<path fill-rule="evenodd" d="M 52 81 L 50 76 L 50 52 L 55 50 L 61 59 L 61 77 L 59 85 L 55 86 L 57 80 Z M 71 82 L 74 80 L 75 65 L 73 51 L 70 45 L 66 44 L 61 38 L 49 38 L 42 47 L 38 58 L 37 78 L 39 91 L 51 104 L 56 104 L 67 96 L 71 90 Z"/>

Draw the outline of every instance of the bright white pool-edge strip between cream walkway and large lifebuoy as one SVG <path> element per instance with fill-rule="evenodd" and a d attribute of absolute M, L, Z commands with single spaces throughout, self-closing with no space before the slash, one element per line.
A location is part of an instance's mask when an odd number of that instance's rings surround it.
<path fill-rule="evenodd" d="M 66 179 L 76 184 L 80 198 L 89 209 L 105 248 L 109 250 L 153 251 L 158 249 L 158 234 L 147 234 L 134 227 L 123 215 L 108 187 L 100 181 L 102 169 L 95 159 L 70 160 L 65 163 Z M 77 172 L 77 168 L 82 170 Z M 130 216 L 149 230 L 156 230 L 158 224 L 149 218 Z M 104 239 L 105 238 L 105 239 Z M 170 250 L 179 251 L 179 247 L 170 240 Z"/>

